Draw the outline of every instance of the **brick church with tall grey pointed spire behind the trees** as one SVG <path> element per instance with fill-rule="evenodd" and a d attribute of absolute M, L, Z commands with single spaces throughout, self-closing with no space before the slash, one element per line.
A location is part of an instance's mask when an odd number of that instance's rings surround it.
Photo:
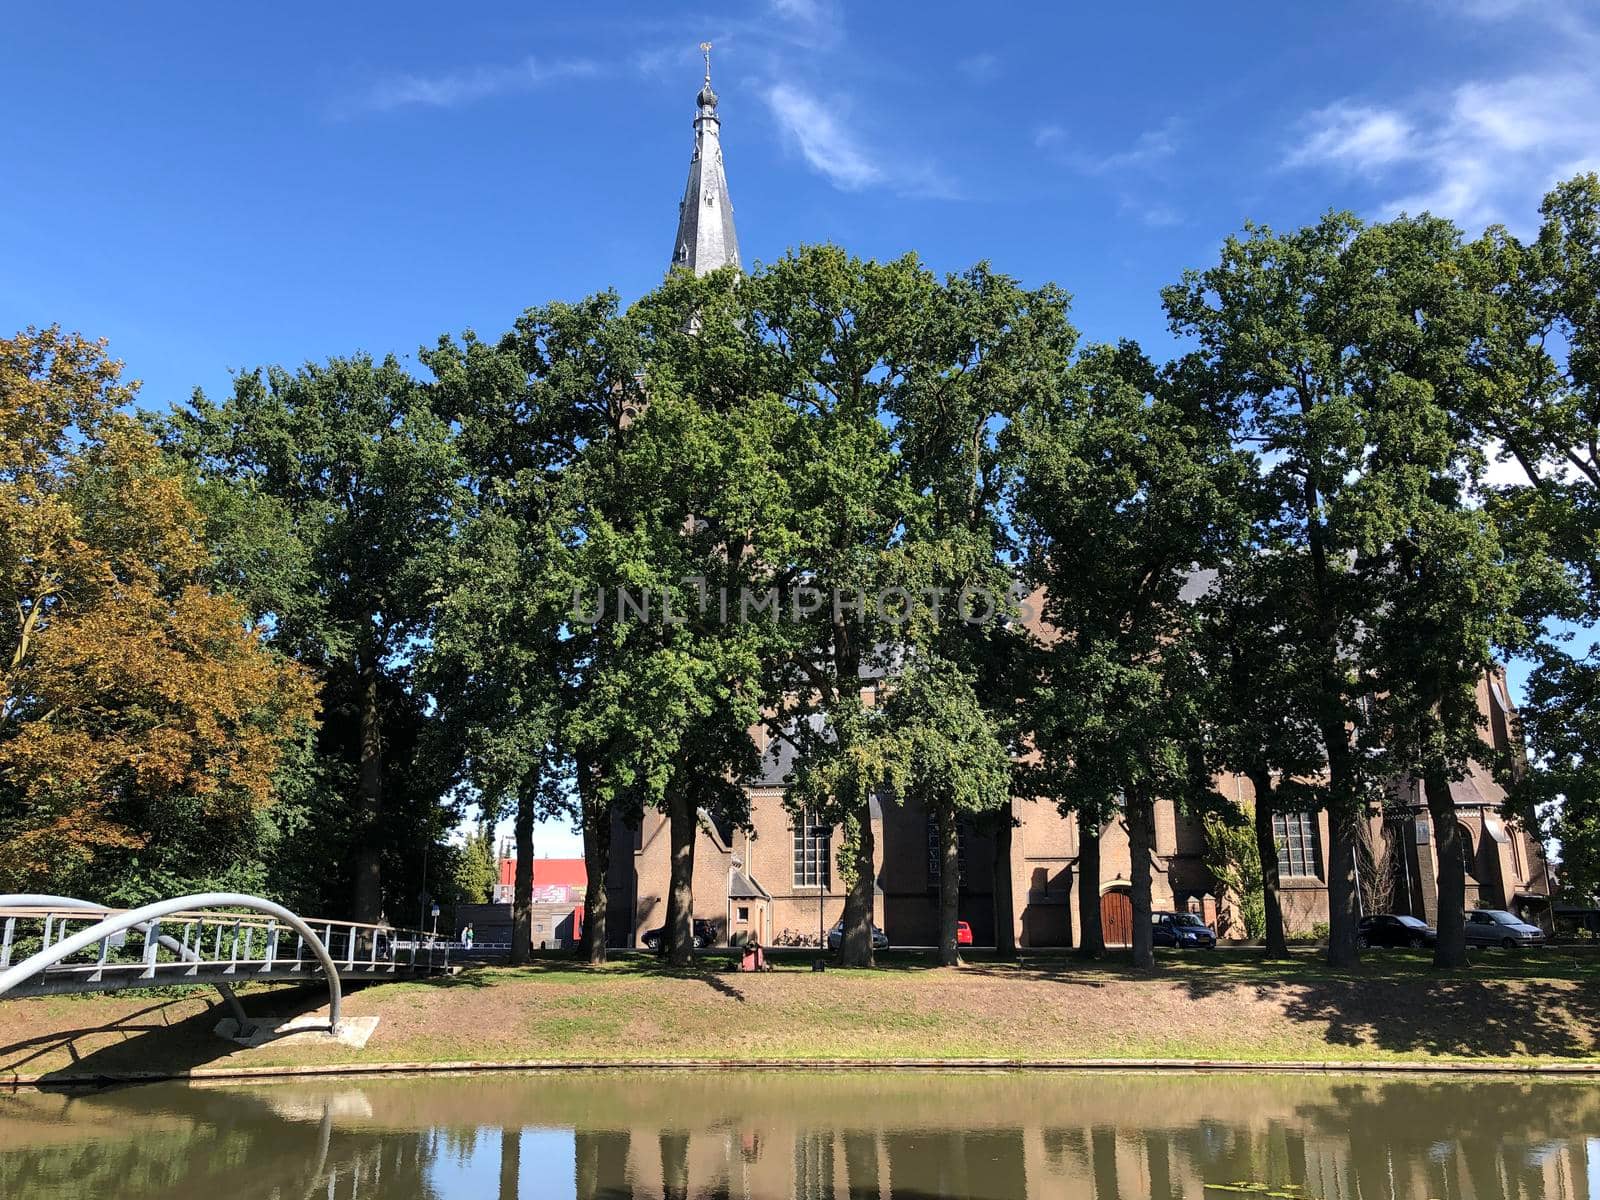
<path fill-rule="evenodd" d="M 702 46 L 709 51 L 709 46 Z M 698 275 L 718 267 L 741 267 L 733 202 L 722 154 L 718 96 L 706 80 L 696 96 L 694 150 L 688 184 L 678 205 L 672 266 Z M 862 680 L 874 688 L 872 680 Z M 1520 755 L 1514 744 L 1514 709 L 1504 675 L 1478 682 L 1483 736 L 1501 755 Z M 818 944 L 843 915 L 845 886 L 835 864 L 837 830 L 784 806 L 792 750 L 768 742 L 765 730 L 752 736 L 763 750 L 763 768 L 747 782 L 749 829 L 722 827 L 702 814 L 694 846 L 694 917 L 709 922 L 720 942 L 757 938 L 766 946 Z M 1250 781 L 1221 776 L 1218 790 L 1246 810 Z M 1363 846 L 1371 870 L 1362 872 L 1366 912 L 1414 914 L 1437 918 L 1437 858 L 1430 818 L 1418 789 L 1397 781 L 1389 800 L 1373 806 L 1365 821 Z M 1523 912 L 1539 920 L 1549 912 L 1549 872 L 1539 840 L 1506 816 L 1506 792 L 1478 766 L 1453 784 L 1467 872 L 1467 907 L 1485 904 Z M 995 840 L 979 829 L 960 837 L 960 918 L 971 925 L 978 946 L 992 946 L 995 922 L 1010 920 L 1019 947 L 1067 947 L 1080 938 L 1077 906 L 1077 821 L 1048 802 L 1018 797 L 1011 805 L 1014 834 L 1010 854 L 997 859 Z M 891 797 L 874 800 L 877 845 L 874 923 L 891 946 L 933 946 L 939 925 L 939 856 L 934 822 L 915 803 Z M 1288 933 L 1310 933 L 1328 920 L 1325 848 L 1326 813 L 1285 813 L 1274 818 L 1282 870 L 1283 917 Z M 1214 923 L 1224 939 L 1245 936 L 1235 901 L 1219 894 L 1206 867 L 1205 830 L 1171 802 L 1155 810 L 1155 850 L 1150 862 L 1152 906 L 1194 910 Z M 1010 877 L 1013 912 L 995 912 L 995 878 Z M 1128 832 L 1120 819 L 1101 834 L 1101 925 L 1106 942 L 1131 938 L 1131 859 Z M 646 811 L 638 824 L 618 819 L 606 877 L 608 928 L 614 946 L 640 946 L 646 930 L 667 914 L 670 837 L 661 811 Z M 1547 917 L 1546 917 L 1547 922 Z"/>

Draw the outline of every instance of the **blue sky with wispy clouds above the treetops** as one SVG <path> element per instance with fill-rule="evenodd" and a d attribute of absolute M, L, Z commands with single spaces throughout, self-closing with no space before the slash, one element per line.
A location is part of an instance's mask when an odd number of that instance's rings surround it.
<path fill-rule="evenodd" d="M 1600 6 L 18 5 L 0 328 L 110 339 L 142 403 L 230 368 L 494 334 L 662 275 L 715 43 L 749 266 L 987 258 L 1091 338 L 1243 221 L 1536 222 L 1600 168 Z"/>

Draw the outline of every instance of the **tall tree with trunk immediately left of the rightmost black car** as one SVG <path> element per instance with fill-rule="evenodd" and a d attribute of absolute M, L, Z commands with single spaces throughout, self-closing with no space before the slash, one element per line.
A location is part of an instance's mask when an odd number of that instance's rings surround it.
<path fill-rule="evenodd" d="M 1376 782 L 1352 738 L 1366 688 L 1350 648 L 1376 608 L 1357 571 L 1362 514 L 1349 494 L 1371 445 L 1349 363 L 1368 349 L 1360 306 L 1379 286 L 1344 258 L 1358 227 L 1347 214 L 1291 234 L 1251 226 L 1224 243 L 1214 267 L 1163 293 L 1173 331 L 1197 342 L 1187 366 L 1197 386 L 1235 410 L 1237 435 L 1262 456 L 1269 515 L 1256 552 L 1277 576 L 1277 624 L 1285 650 L 1301 656 L 1294 674 L 1309 680 L 1326 762 L 1318 795 L 1336 966 L 1358 958 L 1357 822 Z"/>

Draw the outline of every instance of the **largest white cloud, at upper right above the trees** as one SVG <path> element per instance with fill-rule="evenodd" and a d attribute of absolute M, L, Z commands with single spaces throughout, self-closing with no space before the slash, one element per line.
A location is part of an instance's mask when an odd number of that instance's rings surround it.
<path fill-rule="evenodd" d="M 1550 184 L 1600 158 L 1600 74 L 1474 80 L 1405 107 L 1339 102 L 1306 125 L 1285 165 L 1381 179 L 1386 213 L 1526 226 Z"/>

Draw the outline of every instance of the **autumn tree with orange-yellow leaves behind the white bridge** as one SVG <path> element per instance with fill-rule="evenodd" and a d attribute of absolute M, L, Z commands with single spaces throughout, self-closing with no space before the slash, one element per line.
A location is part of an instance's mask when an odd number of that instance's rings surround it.
<path fill-rule="evenodd" d="M 136 387 L 104 342 L 0 339 L 0 891 L 243 882 L 315 717 L 307 672 L 206 587 Z"/>

